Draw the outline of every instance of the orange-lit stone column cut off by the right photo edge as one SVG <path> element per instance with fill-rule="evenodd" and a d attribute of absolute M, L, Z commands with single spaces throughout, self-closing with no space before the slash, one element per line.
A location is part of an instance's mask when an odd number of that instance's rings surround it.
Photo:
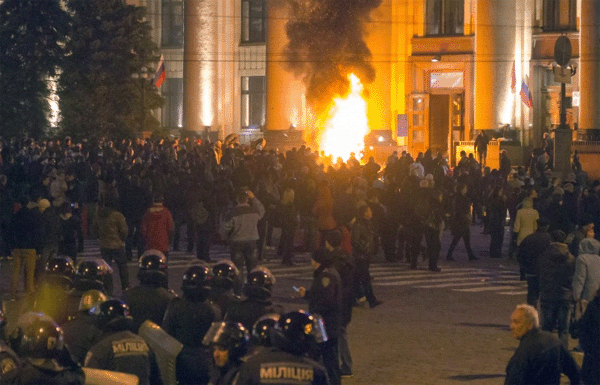
<path fill-rule="evenodd" d="M 600 1 L 581 0 L 579 129 L 600 129 Z"/>

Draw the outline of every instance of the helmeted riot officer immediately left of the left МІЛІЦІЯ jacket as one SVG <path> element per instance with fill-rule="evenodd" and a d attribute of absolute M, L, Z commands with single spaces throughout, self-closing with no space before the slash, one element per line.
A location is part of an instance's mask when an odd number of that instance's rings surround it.
<path fill-rule="evenodd" d="M 42 313 L 25 313 L 11 333 L 10 343 L 21 358 L 19 384 L 74 385 L 85 382 L 81 367 L 67 350 L 63 331 Z"/>

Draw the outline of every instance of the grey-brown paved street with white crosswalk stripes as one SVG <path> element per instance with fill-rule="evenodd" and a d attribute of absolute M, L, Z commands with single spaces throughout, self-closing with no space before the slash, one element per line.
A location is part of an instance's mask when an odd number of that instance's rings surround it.
<path fill-rule="evenodd" d="M 518 344 L 509 333 L 509 317 L 516 304 L 525 302 L 526 284 L 519 280 L 514 261 L 487 257 L 489 236 L 480 233 L 480 227 L 472 228 L 473 249 L 479 261 L 467 260 L 461 242 L 454 254 L 457 261 L 447 262 L 442 257 L 439 273 L 426 270 L 426 262 L 419 270 L 409 270 L 405 263 L 373 263 L 375 294 L 384 304 L 375 309 L 355 308 L 349 327 L 355 375 L 345 378 L 344 384 L 504 382 L 506 363 Z M 449 232 L 442 243 L 445 256 Z M 504 250 L 508 250 L 506 243 Z M 97 243 L 90 241 L 81 257 L 98 254 Z M 268 257 L 275 258 L 272 251 Z M 228 258 L 228 251 L 215 246 L 211 258 Z M 292 286 L 310 284 L 309 259 L 306 253 L 296 255 L 297 265 L 293 267 L 282 266 L 275 259 L 262 263 L 277 279 L 275 300 L 287 310 L 306 306 L 303 299 L 294 297 Z M 180 291 L 182 273 L 193 263 L 197 263 L 193 255 L 171 253 L 169 280 L 175 291 Z M 0 265 L 3 293 L 8 289 L 10 269 L 10 263 Z M 130 263 L 129 269 L 135 283 L 136 264 Z M 117 274 L 115 278 L 115 294 L 119 294 Z M 13 315 L 17 305 L 7 304 Z"/>

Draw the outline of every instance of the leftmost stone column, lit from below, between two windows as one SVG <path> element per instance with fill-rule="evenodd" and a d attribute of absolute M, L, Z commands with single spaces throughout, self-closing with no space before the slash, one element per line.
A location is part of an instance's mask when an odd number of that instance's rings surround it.
<path fill-rule="evenodd" d="M 217 113 L 217 0 L 184 0 L 183 127 L 204 132 Z"/>

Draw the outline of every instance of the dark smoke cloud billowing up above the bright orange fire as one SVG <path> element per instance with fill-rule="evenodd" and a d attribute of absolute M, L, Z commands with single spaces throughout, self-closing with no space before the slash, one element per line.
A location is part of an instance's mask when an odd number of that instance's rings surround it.
<path fill-rule="evenodd" d="M 365 27 L 371 11 L 381 0 L 288 0 L 289 39 L 284 55 L 289 70 L 301 77 L 306 99 L 316 109 L 324 108 L 338 95 L 348 92 L 348 74 L 363 84 L 375 80 L 365 43 Z"/>

